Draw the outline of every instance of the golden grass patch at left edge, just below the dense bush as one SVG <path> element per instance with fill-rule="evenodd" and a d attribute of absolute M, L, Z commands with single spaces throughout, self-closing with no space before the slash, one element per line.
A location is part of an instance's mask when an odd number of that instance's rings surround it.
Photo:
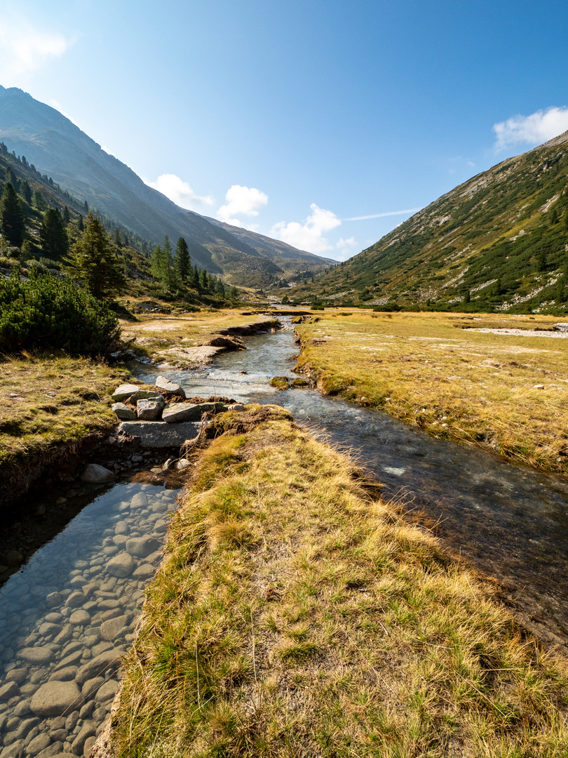
<path fill-rule="evenodd" d="M 125 371 L 85 358 L 0 362 L 0 463 L 80 440 L 116 422 L 110 393 Z"/>

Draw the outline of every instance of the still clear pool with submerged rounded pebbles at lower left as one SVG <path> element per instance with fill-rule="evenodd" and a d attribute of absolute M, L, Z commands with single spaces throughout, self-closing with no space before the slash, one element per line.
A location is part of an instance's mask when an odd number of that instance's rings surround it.
<path fill-rule="evenodd" d="M 0 589 L 0 758 L 91 749 L 175 508 L 175 491 L 116 485 Z"/>

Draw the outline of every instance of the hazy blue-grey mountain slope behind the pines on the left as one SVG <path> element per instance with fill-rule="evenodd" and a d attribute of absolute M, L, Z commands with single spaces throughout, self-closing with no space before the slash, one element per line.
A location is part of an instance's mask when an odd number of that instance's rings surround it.
<path fill-rule="evenodd" d="M 183 236 L 192 260 L 232 283 L 258 286 L 285 271 L 229 230 L 179 208 L 54 108 L 0 87 L 0 139 L 89 207 L 152 244 Z"/>

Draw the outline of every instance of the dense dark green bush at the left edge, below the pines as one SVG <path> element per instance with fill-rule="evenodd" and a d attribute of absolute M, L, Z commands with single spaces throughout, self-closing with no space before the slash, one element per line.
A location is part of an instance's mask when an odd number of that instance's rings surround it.
<path fill-rule="evenodd" d="M 71 355 L 110 352 L 120 336 L 116 316 L 87 290 L 48 274 L 0 277 L 0 352 L 63 349 Z"/>

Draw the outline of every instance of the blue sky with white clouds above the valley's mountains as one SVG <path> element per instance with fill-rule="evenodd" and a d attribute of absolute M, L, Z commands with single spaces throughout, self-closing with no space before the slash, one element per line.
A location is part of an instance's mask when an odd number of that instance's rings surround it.
<path fill-rule="evenodd" d="M 557 0 L 20 0 L 0 83 L 180 205 L 344 259 L 568 129 L 567 22 Z"/>

